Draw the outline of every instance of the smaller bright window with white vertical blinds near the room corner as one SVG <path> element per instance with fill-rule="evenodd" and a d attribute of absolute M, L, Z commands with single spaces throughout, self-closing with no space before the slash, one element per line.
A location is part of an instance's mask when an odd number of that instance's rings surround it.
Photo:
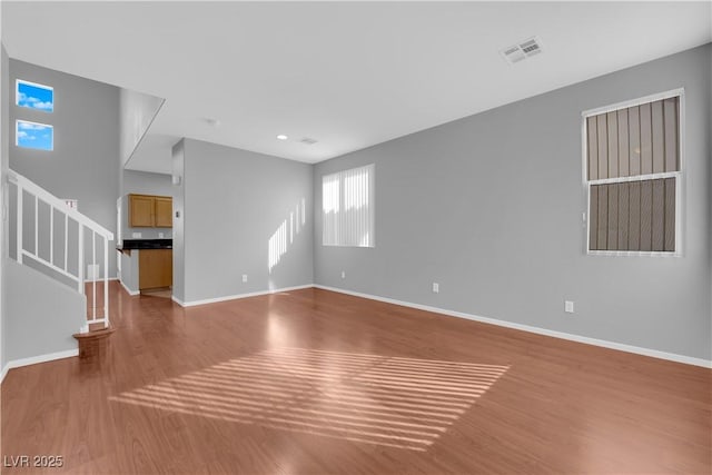
<path fill-rule="evenodd" d="M 374 174 L 372 164 L 322 178 L 324 246 L 375 247 Z"/>

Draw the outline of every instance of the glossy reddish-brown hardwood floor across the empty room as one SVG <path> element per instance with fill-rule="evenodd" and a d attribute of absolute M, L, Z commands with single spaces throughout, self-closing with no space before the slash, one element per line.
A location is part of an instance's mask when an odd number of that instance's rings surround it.
<path fill-rule="evenodd" d="M 318 289 L 187 309 L 110 291 L 97 357 L 7 375 L 3 473 L 712 467 L 710 369 Z"/>

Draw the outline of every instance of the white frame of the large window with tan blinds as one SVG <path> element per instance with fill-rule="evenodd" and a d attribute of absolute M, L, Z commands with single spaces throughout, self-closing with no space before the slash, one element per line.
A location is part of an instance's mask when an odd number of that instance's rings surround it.
<path fill-rule="evenodd" d="M 589 174 L 589 130 L 587 118 L 592 116 L 599 116 L 602 113 L 613 112 L 629 107 L 636 107 L 644 103 L 650 103 L 663 99 L 670 99 L 678 97 L 679 99 L 679 138 L 678 138 L 678 154 L 680 157 L 680 166 L 678 171 L 664 171 L 656 174 L 637 175 L 633 177 L 617 177 L 617 178 L 603 178 L 590 180 Z M 650 96 L 640 97 L 636 99 L 625 100 L 609 106 L 599 107 L 595 109 L 589 109 L 581 112 L 581 177 L 585 192 L 586 208 L 583 211 L 584 226 L 584 251 L 587 256 L 632 256 L 632 257 L 682 257 L 683 255 L 683 235 L 682 235 L 682 221 L 684 219 L 684 170 L 685 170 L 685 91 L 684 88 L 671 89 L 664 92 L 657 92 Z M 633 181 L 647 181 L 661 178 L 675 178 L 675 250 L 599 250 L 591 249 L 591 219 L 589 212 L 591 210 L 591 187 L 595 185 L 619 184 L 619 182 L 633 182 Z"/>

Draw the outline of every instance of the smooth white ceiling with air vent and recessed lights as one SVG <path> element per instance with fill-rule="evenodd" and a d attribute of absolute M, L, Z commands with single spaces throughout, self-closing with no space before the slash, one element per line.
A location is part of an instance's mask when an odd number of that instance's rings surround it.
<path fill-rule="evenodd" d="M 712 41 L 709 1 L 1 4 L 11 58 L 166 98 L 150 171 L 180 137 L 316 162 Z"/>

